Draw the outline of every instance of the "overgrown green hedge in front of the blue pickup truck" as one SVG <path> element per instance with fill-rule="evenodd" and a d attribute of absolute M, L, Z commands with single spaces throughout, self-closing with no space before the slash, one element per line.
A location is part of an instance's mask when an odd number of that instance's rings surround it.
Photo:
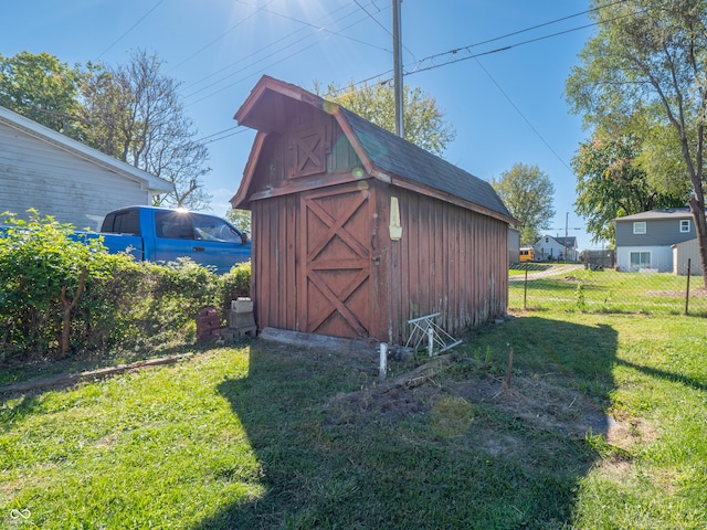
<path fill-rule="evenodd" d="M 201 307 L 250 294 L 250 264 L 219 277 L 188 258 L 156 265 L 109 254 L 99 237 L 35 211 L 0 222 L 0 360 L 189 341 Z"/>

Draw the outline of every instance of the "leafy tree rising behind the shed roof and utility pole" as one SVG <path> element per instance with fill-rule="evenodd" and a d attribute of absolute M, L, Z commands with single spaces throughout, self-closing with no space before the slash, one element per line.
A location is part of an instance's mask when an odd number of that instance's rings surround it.
<path fill-rule="evenodd" d="M 395 103 L 390 84 L 365 83 L 357 88 L 351 83 L 346 91 L 337 91 L 330 84 L 320 94 L 315 83 L 315 92 L 386 130 L 395 130 Z M 403 130 L 405 140 L 437 156 L 442 156 L 446 146 L 456 137 L 454 128 L 444 120 L 444 113 L 436 100 L 423 94 L 420 88 L 408 86 L 403 88 Z"/>

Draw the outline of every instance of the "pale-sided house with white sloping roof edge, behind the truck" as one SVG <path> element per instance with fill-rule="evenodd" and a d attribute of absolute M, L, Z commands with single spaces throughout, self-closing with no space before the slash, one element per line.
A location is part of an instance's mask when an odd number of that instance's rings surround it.
<path fill-rule="evenodd" d="M 0 107 L 0 212 L 29 209 L 76 229 L 98 230 L 126 205 L 151 204 L 170 182 Z"/>

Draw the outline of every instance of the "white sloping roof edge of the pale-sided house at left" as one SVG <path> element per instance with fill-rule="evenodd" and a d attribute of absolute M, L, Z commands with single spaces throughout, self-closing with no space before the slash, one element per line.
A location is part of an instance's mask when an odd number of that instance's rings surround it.
<path fill-rule="evenodd" d="M 155 177 L 146 171 L 137 169 L 129 163 L 117 160 L 104 152 L 76 141 L 66 135 L 62 135 L 54 129 L 45 127 L 30 118 L 27 118 L 9 108 L 0 106 L 0 124 L 30 135 L 41 141 L 50 144 L 59 149 L 71 152 L 74 156 L 88 160 L 97 166 L 108 169 L 129 180 L 137 181 L 146 190 L 154 193 L 163 193 L 175 189 L 171 182 Z"/>

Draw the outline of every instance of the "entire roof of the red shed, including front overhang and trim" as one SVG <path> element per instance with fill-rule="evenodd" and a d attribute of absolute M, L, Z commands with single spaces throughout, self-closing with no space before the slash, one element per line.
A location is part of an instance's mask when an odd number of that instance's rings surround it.
<path fill-rule="evenodd" d="M 272 117 L 267 118 L 264 109 L 284 108 L 286 98 L 331 114 L 371 177 L 515 224 L 510 212 L 487 181 L 295 85 L 263 76 L 236 112 L 235 119 L 240 125 L 261 132 L 282 130 L 284 113 L 271 113 Z M 231 200 L 234 205 L 246 200 L 255 168 L 254 158 L 261 148 L 262 138 L 256 140 L 241 187 Z"/>

